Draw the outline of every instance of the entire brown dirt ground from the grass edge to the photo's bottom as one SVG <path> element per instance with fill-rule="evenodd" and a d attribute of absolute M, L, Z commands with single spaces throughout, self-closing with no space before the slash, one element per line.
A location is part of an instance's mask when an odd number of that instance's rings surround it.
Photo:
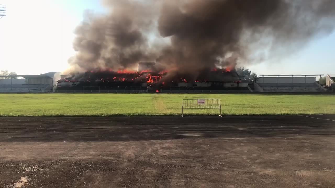
<path fill-rule="evenodd" d="M 334 120 L 1 117 L 0 187 L 333 188 Z"/>

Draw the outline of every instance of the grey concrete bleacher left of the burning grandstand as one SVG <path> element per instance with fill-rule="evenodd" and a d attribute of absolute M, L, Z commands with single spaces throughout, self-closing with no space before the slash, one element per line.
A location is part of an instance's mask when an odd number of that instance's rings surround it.
<path fill-rule="evenodd" d="M 44 84 L 3 84 L 0 85 L 0 93 L 41 93 L 47 87 Z"/>

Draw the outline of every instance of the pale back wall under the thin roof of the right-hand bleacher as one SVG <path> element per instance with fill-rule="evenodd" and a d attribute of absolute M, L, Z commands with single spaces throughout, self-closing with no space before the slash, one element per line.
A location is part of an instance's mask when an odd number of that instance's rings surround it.
<path fill-rule="evenodd" d="M 292 83 L 292 77 L 260 77 L 257 79 L 257 83 Z M 314 83 L 315 77 L 306 77 L 306 83 Z M 305 77 L 293 77 L 293 83 L 305 83 Z"/>

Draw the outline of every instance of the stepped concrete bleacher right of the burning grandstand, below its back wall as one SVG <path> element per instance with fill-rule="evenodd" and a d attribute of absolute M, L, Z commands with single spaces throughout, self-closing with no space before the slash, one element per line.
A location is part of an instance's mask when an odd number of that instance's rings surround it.
<path fill-rule="evenodd" d="M 324 92 L 315 83 L 257 83 L 263 92 Z"/>

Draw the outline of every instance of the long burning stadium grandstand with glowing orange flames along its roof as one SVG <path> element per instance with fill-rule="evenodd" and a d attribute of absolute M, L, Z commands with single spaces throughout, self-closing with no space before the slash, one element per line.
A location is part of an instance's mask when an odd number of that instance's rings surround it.
<path fill-rule="evenodd" d="M 143 64 L 142 64 L 143 65 Z M 242 80 L 235 70 L 212 69 L 197 76 L 157 71 L 152 63 L 149 70 L 141 71 L 98 70 L 75 75 L 63 75 L 57 90 L 236 90 L 247 89 L 248 81 Z M 141 68 L 142 67 L 142 68 Z"/>

